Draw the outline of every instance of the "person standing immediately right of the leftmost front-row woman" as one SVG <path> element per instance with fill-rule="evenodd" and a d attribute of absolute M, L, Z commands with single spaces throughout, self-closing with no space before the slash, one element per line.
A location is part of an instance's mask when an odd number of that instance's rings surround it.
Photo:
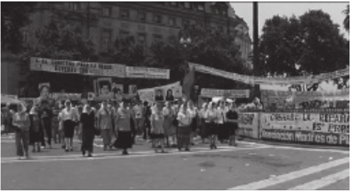
<path fill-rule="evenodd" d="M 33 106 L 31 111 L 29 111 L 29 120 L 31 121 L 31 126 L 29 127 L 29 144 L 33 145 L 32 152 L 41 151 L 41 138 L 42 138 L 42 128 L 40 126 L 41 120 L 38 115 L 38 107 Z"/>

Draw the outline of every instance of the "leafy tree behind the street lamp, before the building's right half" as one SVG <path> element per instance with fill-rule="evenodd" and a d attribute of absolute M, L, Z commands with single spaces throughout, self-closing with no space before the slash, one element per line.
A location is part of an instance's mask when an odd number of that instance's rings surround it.
<path fill-rule="evenodd" d="M 186 41 L 181 41 L 181 38 Z M 179 35 L 172 35 L 164 42 L 155 42 L 150 48 L 146 65 L 165 67 L 171 70 L 171 80 L 183 79 L 187 72 L 187 62 L 195 62 L 220 70 L 247 74 L 240 57 L 239 46 L 234 38 L 223 35 L 211 28 L 184 26 Z M 228 79 L 197 74 L 196 84 L 200 87 L 234 89 L 236 82 L 228 84 Z"/>

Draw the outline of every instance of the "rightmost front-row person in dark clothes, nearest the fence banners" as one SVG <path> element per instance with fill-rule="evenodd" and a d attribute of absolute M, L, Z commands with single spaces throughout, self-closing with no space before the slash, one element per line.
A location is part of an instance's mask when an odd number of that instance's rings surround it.
<path fill-rule="evenodd" d="M 239 114 L 236 112 L 236 104 L 232 103 L 229 111 L 226 113 L 226 127 L 229 131 L 229 145 L 236 146 L 236 131 L 239 129 Z"/>

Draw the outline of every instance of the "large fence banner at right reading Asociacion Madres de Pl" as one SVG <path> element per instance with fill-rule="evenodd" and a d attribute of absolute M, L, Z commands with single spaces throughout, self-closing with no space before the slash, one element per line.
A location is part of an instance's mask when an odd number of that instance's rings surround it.
<path fill-rule="evenodd" d="M 350 113 L 263 113 L 261 138 L 293 143 L 348 145 Z"/>

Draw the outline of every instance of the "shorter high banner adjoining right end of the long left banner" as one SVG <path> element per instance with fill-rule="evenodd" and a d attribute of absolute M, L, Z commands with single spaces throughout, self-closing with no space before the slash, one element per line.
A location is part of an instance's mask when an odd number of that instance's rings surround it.
<path fill-rule="evenodd" d="M 154 67 L 126 67 L 126 77 L 146 79 L 169 79 L 169 70 Z"/>

